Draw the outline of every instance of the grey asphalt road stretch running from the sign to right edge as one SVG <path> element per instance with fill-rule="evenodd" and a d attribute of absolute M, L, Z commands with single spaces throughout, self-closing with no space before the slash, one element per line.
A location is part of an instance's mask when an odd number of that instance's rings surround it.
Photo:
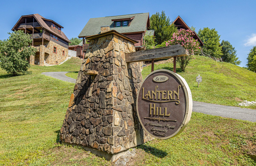
<path fill-rule="evenodd" d="M 256 110 L 226 105 L 193 101 L 193 111 L 220 117 L 248 120 L 256 122 Z"/>

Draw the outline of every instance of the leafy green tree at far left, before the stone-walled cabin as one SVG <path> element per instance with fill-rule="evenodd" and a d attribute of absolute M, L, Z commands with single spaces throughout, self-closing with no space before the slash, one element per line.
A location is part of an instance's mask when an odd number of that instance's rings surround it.
<path fill-rule="evenodd" d="M 8 34 L 9 38 L 0 42 L 0 67 L 13 76 L 27 74 L 30 67 L 28 59 L 36 54 L 36 48 L 28 47 L 32 43 L 31 35 L 22 30 Z"/>

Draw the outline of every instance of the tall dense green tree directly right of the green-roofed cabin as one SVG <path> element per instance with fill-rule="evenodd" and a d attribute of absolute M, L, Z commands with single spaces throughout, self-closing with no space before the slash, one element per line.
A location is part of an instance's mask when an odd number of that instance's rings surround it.
<path fill-rule="evenodd" d="M 177 32 L 177 27 L 172 24 L 169 17 L 166 17 L 164 11 L 160 14 L 156 12 L 150 17 L 151 30 L 155 30 L 156 43 L 161 44 L 164 41 L 170 40 L 172 34 Z"/>

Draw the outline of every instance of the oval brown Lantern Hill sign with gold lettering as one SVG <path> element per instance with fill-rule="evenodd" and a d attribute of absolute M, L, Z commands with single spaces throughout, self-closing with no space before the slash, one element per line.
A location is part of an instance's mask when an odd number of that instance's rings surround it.
<path fill-rule="evenodd" d="M 186 80 L 172 71 L 160 69 L 143 80 L 137 94 L 137 115 L 149 135 L 166 140 L 185 129 L 192 104 Z"/>

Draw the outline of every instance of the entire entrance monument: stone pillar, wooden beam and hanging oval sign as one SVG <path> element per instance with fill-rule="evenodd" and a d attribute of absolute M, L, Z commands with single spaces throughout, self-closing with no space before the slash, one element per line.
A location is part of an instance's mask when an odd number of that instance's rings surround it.
<path fill-rule="evenodd" d="M 60 140 L 63 143 L 82 146 L 85 150 L 114 161 L 131 147 L 153 140 L 153 137 L 172 137 L 184 129 L 192 109 L 191 94 L 186 81 L 173 72 L 157 70 L 144 80 L 145 84 L 148 82 L 147 86 L 141 84 L 141 61 L 187 56 L 188 53 L 183 47 L 173 45 L 135 52 L 134 43 L 137 41 L 114 30 L 86 39 L 90 40 L 90 44 L 84 56 L 85 62 L 78 72 L 74 92 L 60 129 Z M 163 77 L 156 79 L 159 75 Z M 148 91 L 152 94 L 154 90 L 153 95 L 156 93 L 157 99 L 149 99 L 151 94 L 145 98 L 153 101 L 142 99 L 140 87 L 144 87 L 144 97 Z M 141 104 L 147 106 L 147 109 L 138 109 L 140 119 L 136 113 L 137 98 Z M 177 101 L 159 103 L 164 100 Z M 147 115 L 140 114 L 140 110 L 144 109 Z M 141 117 L 146 117 L 143 122 Z M 148 118 L 158 118 L 158 121 Z M 177 123 L 160 119 L 176 120 Z M 151 131 L 153 126 L 149 123 L 146 126 L 143 124 L 147 122 L 164 122 L 169 129 L 166 133 Z M 154 129 L 159 129 L 159 126 Z"/>

